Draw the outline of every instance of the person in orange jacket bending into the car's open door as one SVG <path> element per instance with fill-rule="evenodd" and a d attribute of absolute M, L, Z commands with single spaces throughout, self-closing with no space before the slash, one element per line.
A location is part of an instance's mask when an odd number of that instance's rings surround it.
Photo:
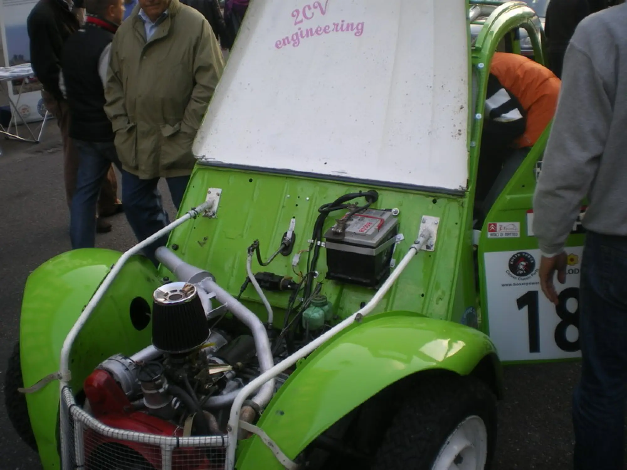
<path fill-rule="evenodd" d="M 551 122 L 561 86 L 551 70 L 519 54 L 495 53 L 490 75 L 500 86 L 489 90 L 488 84 L 483 121 L 475 198 L 484 215 Z"/>

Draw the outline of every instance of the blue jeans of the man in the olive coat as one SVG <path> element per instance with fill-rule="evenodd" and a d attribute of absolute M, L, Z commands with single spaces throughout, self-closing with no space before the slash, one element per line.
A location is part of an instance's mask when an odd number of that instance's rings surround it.
<path fill-rule="evenodd" d="M 189 182 L 189 176 L 166 178 L 166 182 L 170 189 L 172 202 L 178 210 L 185 194 L 187 182 Z M 140 179 L 134 174 L 122 171 L 124 212 L 130 227 L 135 232 L 135 237 L 139 241 L 149 238 L 170 223 L 170 218 L 163 207 L 161 192 L 157 187 L 158 183 L 159 178 Z M 155 258 L 155 251 L 160 246 L 165 246 L 166 243 L 167 236 L 164 236 L 144 248 L 144 254 L 155 266 L 159 265 Z"/>

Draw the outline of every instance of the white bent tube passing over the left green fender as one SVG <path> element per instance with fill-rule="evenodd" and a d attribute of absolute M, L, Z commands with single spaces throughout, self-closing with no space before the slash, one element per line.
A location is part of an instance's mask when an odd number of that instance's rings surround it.
<path fill-rule="evenodd" d="M 124 254 L 122 254 L 122 256 L 120 256 L 120 259 L 118 259 L 117 263 L 113 264 L 113 268 L 111 268 L 111 270 L 107 273 L 107 275 L 102 281 L 102 284 L 98 286 L 98 289 L 96 290 L 96 292 L 90 299 L 89 303 L 83 310 L 83 313 L 81 313 L 81 315 L 78 317 L 78 320 L 76 320 L 76 322 L 74 323 L 74 326 L 72 326 L 70 330 L 70 333 L 68 333 L 68 335 L 65 337 L 65 341 L 63 342 L 63 347 L 61 348 L 61 354 L 60 354 L 60 360 L 59 360 L 60 362 L 59 371 L 60 371 L 60 377 L 61 377 L 59 390 L 60 390 L 61 397 L 63 397 L 64 387 L 68 387 L 69 386 L 68 382 L 71 380 L 70 351 L 71 351 L 72 345 L 74 344 L 74 341 L 76 340 L 76 337 L 78 336 L 78 333 L 80 333 L 80 331 L 83 329 L 83 326 L 85 326 L 85 323 L 87 323 L 87 320 L 92 315 L 93 311 L 98 306 L 98 303 L 100 303 L 100 300 L 102 300 L 103 296 L 107 292 L 108 288 L 112 285 L 113 281 L 115 281 L 115 278 L 117 277 L 117 275 L 120 273 L 120 271 L 122 271 L 122 268 L 127 263 L 127 261 L 129 261 L 129 259 L 132 256 L 139 253 L 146 246 L 149 246 L 149 244 L 154 243 L 155 241 L 160 239 L 162 236 L 169 234 L 169 232 L 176 229 L 176 227 L 180 226 L 181 224 L 184 224 L 185 222 L 189 221 L 189 219 L 196 219 L 196 217 L 203 214 L 203 212 L 209 211 L 211 207 L 213 207 L 213 204 L 214 204 L 213 201 L 206 201 L 206 202 L 203 202 L 203 204 L 201 204 L 200 206 L 194 207 L 193 209 L 191 209 L 191 211 L 187 212 L 187 214 L 185 214 L 184 216 L 180 217 L 179 219 L 172 222 L 168 226 L 162 228 L 160 231 L 158 231 L 154 235 L 150 236 L 149 238 L 136 244 L 133 248 L 126 251 Z M 62 407 L 63 404 L 60 403 L 60 406 Z M 70 452 L 71 452 L 71 449 L 68 446 L 68 442 L 65 442 L 66 439 L 63 438 L 67 434 L 67 429 L 65 428 L 68 422 L 69 422 L 68 420 L 61 419 L 61 456 L 65 457 L 66 462 L 70 461 L 67 457 L 70 455 Z"/>

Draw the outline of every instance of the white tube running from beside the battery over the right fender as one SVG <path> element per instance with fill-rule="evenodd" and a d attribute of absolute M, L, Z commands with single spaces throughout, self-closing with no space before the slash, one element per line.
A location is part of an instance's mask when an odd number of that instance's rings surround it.
<path fill-rule="evenodd" d="M 366 306 L 364 306 L 364 308 L 359 309 L 358 311 L 356 311 L 356 313 L 353 313 L 344 321 L 338 323 L 323 335 L 315 338 L 315 340 L 300 348 L 300 350 L 293 353 L 290 357 L 285 358 L 277 365 L 272 367 L 270 370 L 262 373 L 255 380 L 252 380 L 248 385 L 246 385 L 246 387 L 241 389 L 240 393 L 233 402 L 233 406 L 231 407 L 231 415 L 229 417 L 229 424 L 227 428 L 229 436 L 229 446 L 226 449 L 226 470 L 233 470 L 235 468 L 235 451 L 237 447 L 238 431 L 240 430 L 240 411 L 248 396 L 255 392 L 255 390 L 257 390 L 259 387 L 261 387 L 261 385 L 268 382 L 268 380 L 277 377 L 277 375 L 285 372 L 285 370 L 287 370 L 289 367 L 292 367 L 292 365 L 294 365 L 298 360 L 310 355 L 312 352 L 314 352 L 314 350 L 320 347 L 320 345 L 327 342 L 327 340 L 330 340 L 330 338 L 342 332 L 342 330 L 345 330 L 356 321 L 361 321 L 364 316 L 369 315 L 369 313 L 374 310 L 374 308 L 379 304 L 381 299 L 387 294 L 387 291 L 389 291 L 390 288 L 394 285 L 401 273 L 403 273 L 404 269 L 408 266 L 409 261 L 411 261 L 411 259 L 416 256 L 418 251 L 420 251 L 420 249 L 422 249 L 425 244 L 427 244 L 431 240 L 432 236 L 433 232 L 430 228 L 424 227 L 424 229 L 421 230 L 418 239 L 409 248 L 409 251 L 403 257 L 403 259 L 401 259 L 401 262 L 398 264 L 396 269 L 394 269 L 389 278 L 387 278 L 381 288 L 379 288 L 376 294 L 372 296 L 372 299 L 366 304 Z"/>

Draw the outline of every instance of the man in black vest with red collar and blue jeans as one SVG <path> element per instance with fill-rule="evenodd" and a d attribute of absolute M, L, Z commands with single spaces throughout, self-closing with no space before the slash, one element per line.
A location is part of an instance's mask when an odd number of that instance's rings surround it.
<path fill-rule="evenodd" d="M 124 0 L 85 0 L 87 21 L 73 33 L 61 54 L 61 88 L 70 108 L 69 135 L 79 154 L 78 177 L 70 211 L 73 249 L 93 248 L 98 192 L 111 164 L 120 168 L 115 135 L 105 114 L 111 41 L 124 17 Z M 121 170 L 121 169 L 120 169 Z"/>

